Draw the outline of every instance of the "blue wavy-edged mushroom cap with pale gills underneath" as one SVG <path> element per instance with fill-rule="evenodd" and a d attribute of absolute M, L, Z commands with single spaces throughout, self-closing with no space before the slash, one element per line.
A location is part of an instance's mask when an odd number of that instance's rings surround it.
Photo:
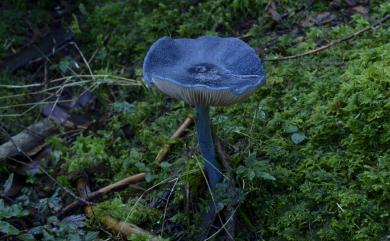
<path fill-rule="evenodd" d="M 226 106 L 265 83 L 255 50 L 238 38 L 162 37 L 144 60 L 148 87 L 191 105 Z"/>

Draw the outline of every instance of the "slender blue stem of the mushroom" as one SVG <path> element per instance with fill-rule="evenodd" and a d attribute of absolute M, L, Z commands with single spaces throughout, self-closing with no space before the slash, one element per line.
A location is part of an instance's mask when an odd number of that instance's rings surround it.
<path fill-rule="evenodd" d="M 214 190 L 217 183 L 222 180 L 222 172 L 215 155 L 208 106 L 196 106 L 196 130 L 200 152 L 205 160 L 209 185 L 211 190 Z"/>

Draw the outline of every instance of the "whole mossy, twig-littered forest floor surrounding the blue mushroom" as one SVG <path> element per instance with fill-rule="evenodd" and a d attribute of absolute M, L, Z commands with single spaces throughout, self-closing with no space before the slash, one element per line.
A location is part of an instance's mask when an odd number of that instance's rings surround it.
<path fill-rule="evenodd" d="M 390 240 L 388 1 L 0 3 L 0 240 Z M 162 36 L 238 37 L 265 66 L 212 108 L 147 89 Z M 176 132 L 176 135 L 172 135 Z"/>

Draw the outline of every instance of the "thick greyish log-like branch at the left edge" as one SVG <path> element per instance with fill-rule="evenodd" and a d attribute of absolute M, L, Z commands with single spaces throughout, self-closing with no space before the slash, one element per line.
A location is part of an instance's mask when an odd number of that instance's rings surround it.
<path fill-rule="evenodd" d="M 19 134 L 11 137 L 12 140 L 0 145 L 0 162 L 21 152 L 29 152 L 42 144 L 45 138 L 53 134 L 55 130 L 56 124 L 49 119 L 43 119 L 28 126 Z"/>

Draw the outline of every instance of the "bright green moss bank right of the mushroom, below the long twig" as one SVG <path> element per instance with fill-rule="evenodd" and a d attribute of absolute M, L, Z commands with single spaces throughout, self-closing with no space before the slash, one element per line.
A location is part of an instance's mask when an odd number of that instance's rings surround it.
<path fill-rule="evenodd" d="M 251 194 L 246 199 L 257 210 L 258 202 L 266 203 L 257 216 L 264 237 L 376 240 L 386 236 L 389 195 L 384 192 L 389 186 L 380 180 L 387 176 L 383 168 L 389 168 L 383 165 L 389 148 L 388 37 L 388 31 L 380 29 L 320 56 L 267 65 L 268 86 L 248 103 L 260 103 L 270 117 L 252 136 L 265 143 L 260 152 L 282 176 L 273 173 L 276 183 L 268 185 L 267 195 L 258 193 L 256 199 Z M 284 123 L 305 133 L 305 142 L 295 145 L 288 138 L 291 133 L 283 130 Z M 248 143 L 256 148 L 256 143 Z M 291 171 L 288 176 L 281 167 Z M 378 192 L 366 189 L 373 185 L 371 178 L 365 179 L 373 170 Z M 288 185 L 283 178 L 289 179 Z"/>

